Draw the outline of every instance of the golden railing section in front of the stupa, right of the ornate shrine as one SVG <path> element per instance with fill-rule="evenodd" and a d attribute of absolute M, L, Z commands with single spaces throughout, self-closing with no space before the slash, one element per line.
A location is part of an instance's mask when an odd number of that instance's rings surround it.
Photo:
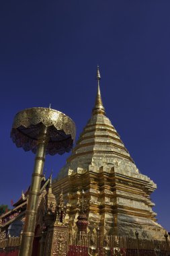
<path fill-rule="evenodd" d="M 86 251 L 93 251 L 94 255 L 105 255 L 105 252 L 111 252 L 110 255 L 169 255 L 170 242 L 168 238 L 164 240 L 148 240 L 142 238 L 128 238 L 122 236 L 103 236 L 103 234 L 91 233 L 87 236 L 80 234 L 70 234 L 69 247 L 74 255 L 74 251 L 88 247 Z M 104 254 L 103 254 L 104 253 Z M 81 254 L 80 254 L 81 255 Z M 86 255 L 86 254 L 82 254 Z M 90 255 L 90 254 L 89 254 Z"/>

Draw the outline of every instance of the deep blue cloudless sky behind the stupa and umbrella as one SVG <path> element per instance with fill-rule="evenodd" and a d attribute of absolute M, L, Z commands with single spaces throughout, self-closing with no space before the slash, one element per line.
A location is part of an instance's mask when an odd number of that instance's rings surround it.
<path fill-rule="evenodd" d="M 107 116 L 140 172 L 157 183 L 157 218 L 169 224 L 170 1 L 31 1 L 0 4 L 1 186 L 10 205 L 31 181 L 34 154 L 9 134 L 24 108 L 69 115 L 77 137 L 91 117 L 97 64 Z M 47 156 L 54 177 L 64 156 Z"/>

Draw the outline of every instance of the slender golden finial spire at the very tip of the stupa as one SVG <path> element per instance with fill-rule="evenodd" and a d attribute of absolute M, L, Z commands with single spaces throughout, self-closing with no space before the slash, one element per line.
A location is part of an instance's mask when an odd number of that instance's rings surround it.
<path fill-rule="evenodd" d="M 99 80 L 101 79 L 99 73 L 99 66 L 97 65 L 97 96 L 95 99 L 95 107 L 93 108 L 93 115 L 101 114 L 105 115 L 105 108 L 103 107 L 103 102 L 101 100 L 101 93 L 99 88 Z"/>

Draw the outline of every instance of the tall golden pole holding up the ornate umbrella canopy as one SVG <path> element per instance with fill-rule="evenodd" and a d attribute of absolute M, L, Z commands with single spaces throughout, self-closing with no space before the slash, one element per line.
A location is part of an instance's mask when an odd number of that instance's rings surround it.
<path fill-rule="evenodd" d="M 32 255 L 32 245 L 36 226 L 36 215 L 38 210 L 38 199 L 40 195 L 40 185 L 42 181 L 42 172 L 45 160 L 46 143 L 47 127 L 44 126 L 42 128 L 40 136 L 38 137 L 38 146 L 34 163 L 34 171 L 32 174 L 32 185 L 28 197 L 26 220 L 24 224 L 24 231 L 22 234 L 22 244 L 21 249 L 19 250 L 19 256 Z"/>

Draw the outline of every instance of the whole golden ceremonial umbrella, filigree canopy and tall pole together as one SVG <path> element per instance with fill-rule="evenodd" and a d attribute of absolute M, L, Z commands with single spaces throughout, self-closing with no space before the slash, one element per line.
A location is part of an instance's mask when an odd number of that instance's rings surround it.
<path fill-rule="evenodd" d="M 36 154 L 19 250 L 19 256 L 31 256 L 45 155 L 64 154 L 71 150 L 75 123 L 67 115 L 51 108 L 28 108 L 15 115 L 11 139 L 18 148 L 32 150 Z"/>

